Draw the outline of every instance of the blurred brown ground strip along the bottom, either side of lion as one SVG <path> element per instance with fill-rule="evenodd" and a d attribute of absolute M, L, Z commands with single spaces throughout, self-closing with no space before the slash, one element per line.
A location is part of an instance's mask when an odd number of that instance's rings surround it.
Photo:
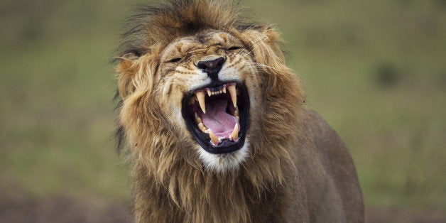
<path fill-rule="evenodd" d="M 0 222 L 60 222 L 108 223 L 132 222 L 130 205 L 94 205 L 67 197 L 48 197 L 44 200 L 4 200 L 0 203 Z M 404 210 L 395 208 L 366 208 L 369 223 L 441 223 L 444 213 L 438 211 Z"/>

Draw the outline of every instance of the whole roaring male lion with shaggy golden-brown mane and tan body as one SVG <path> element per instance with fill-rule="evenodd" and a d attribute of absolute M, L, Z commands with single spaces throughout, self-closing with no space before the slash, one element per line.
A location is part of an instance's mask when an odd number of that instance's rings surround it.
<path fill-rule="evenodd" d="M 130 18 L 116 67 L 137 222 L 363 222 L 356 171 L 278 33 L 232 1 Z"/>

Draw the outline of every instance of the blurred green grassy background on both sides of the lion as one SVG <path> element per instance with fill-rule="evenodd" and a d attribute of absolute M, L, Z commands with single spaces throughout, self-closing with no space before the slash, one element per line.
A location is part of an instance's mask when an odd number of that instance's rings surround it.
<path fill-rule="evenodd" d="M 107 60 L 137 2 L 0 2 L 0 207 L 129 203 Z M 446 1 L 242 4 L 283 33 L 308 105 L 350 148 L 368 210 L 444 216 Z"/>

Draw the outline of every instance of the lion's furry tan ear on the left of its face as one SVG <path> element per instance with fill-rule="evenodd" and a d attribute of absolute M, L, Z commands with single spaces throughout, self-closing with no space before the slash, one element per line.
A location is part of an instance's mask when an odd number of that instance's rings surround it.
<path fill-rule="evenodd" d="M 121 98 L 124 99 L 138 89 L 151 92 L 153 75 L 156 72 L 156 60 L 153 55 L 137 56 L 127 53 L 119 59 L 116 72 L 118 73 L 118 92 Z"/>

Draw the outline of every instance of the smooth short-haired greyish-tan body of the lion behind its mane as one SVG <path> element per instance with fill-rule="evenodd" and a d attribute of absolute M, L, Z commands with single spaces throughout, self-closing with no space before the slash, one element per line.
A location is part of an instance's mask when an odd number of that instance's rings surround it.
<path fill-rule="evenodd" d="M 364 212 L 361 190 L 352 157 L 347 146 L 341 141 L 336 131 L 317 112 L 305 109 L 302 146 L 297 147 L 297 163 L 307 185 L 309 200 L 317 202 L 324 195 L 339 195 L 328 199 L 339 202 L 339 207 L 332 207 L 327 212 L 343 213 L 345 219 L 353 222 L 363 221 Z M 317 183 L 315 183 L 317 182 Z M 332 203 L 333 204 L 333 203 Z M 337 216 L 337 214 L 322 214 Z M 343 218 L 342 216 L 339 216 Z M 324 220 L 322 221 L 324 222 Z"/>

